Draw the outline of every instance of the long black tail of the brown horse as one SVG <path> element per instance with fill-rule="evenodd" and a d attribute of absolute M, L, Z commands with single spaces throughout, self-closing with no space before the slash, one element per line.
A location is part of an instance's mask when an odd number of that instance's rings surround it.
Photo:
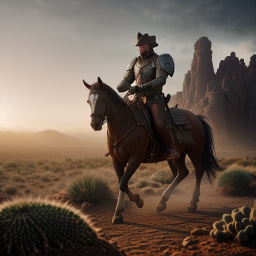
<path fill-rule="evenodd" d="M 216 172 L 224 170 L 223 167 L 219 166 L 219 159 L 216 157 L 215 142 L 213 136 L 213 130 L 207 122 L 207 117 L 198 114 L 197 117 L 201 121 L 204 129 L 204 146 L 202 152 L 202 165 L 206 172 L 207 179 L 211 184 L 212 178 L 216 178 Z"/>

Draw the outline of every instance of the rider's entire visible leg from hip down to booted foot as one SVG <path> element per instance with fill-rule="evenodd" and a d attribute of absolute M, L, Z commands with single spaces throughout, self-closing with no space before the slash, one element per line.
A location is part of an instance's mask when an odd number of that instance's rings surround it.
<path fill-rule="evenodd" d="M 150 108 L 152 113 L 155 131 L 165 147 L 166 158 L 175 158 L 177 156 L 177 152 L 171 147 L 173 142 L 169 127 L 165 122 L 165 104 L 163 99 L 150 100 L 147 102 L 147 106 Z"/>

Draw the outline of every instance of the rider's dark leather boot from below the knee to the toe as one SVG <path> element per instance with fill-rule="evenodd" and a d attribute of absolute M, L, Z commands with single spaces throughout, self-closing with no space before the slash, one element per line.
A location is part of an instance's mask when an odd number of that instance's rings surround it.
<path fill-rule="evenodd" d="M 166 159 L 173 159 L 178 156 L 177 152 L 171 147 L 171 135 L 169 131 L 169 127 L 167 125 L 164 126 L 163 129 L 158 131 L 158 135 L 160 140 L 164 146 L 164 155 Z"/>

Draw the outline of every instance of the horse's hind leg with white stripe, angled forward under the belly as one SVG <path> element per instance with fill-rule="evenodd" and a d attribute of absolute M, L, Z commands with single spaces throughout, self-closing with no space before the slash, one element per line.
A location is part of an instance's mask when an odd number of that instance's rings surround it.
<path fill-rule="evenodd" d="M 172 190 L 188 174 L 188 169 L 185 165 L 185 155 L 186 155 L 186 153 L 183 152 L 182 154 L 180 154 L 180 156 L 178 158 L 175 158 L 172 160 L 173 164 L 175 166 L 177 175 L 172 180 L 171 184 L 163 191 L 161 198 L 158 202 L 157 208 L 156 208 L 157 212 L 163 211 L 166 208 L 166 201 L 168 201 Z M 170 167 L 172 169 L 172 164 L 170 165 Z M 172 171 L 173 171 L 173 169 L 172 169 Z M 175 169 L 174 169 L 174 171 L 175 171 Z"/>

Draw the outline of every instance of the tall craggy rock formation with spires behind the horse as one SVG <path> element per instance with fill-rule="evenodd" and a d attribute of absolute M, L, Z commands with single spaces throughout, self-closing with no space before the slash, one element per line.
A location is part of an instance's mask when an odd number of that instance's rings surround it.
<path fill-rule="evenodd" d="M 194 44 L 191 69 L 185 74 L 183 90 L 172 95 L 170 105 L 206 115 L 218 138 L 246 135 L 256 138 L 256 54 L 248 67 L 231 52 L 214 74 L 207 37 Z"/>

